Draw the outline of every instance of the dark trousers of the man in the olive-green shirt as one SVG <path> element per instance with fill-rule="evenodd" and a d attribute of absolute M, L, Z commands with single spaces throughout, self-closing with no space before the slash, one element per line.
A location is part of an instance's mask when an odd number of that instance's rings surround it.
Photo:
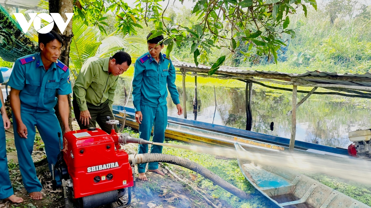
<path fill-rule="evenodd" d="M 89 119 L 89 125 L 83 125 L 80 121 L 80 108 L 77 104 L 77 101 L 75 99 L 75 96 L 73 96 L 73 112 L 75 113 L 75 118 L 77 123 L 80 126 L 80 129 L 87 129 L 90 127 L 95 127 L 96 123 L 98 123 L 99 127 L 108 134 L 111 133 L 112 125 L 106 124 L 106 117 L 111 117 L 111 120 L 114 120 L 114 114 L 111 111 L 111 108 L 109 108 L 108 100 L 106 100 L 104 103 L 100 105 L 93 105 L 91 103 L 86 102 L 86 105 L 88 106 L 88 110 L 90 113 L 90 116 L 92 118 Z M 116 124 L 114 124 L 115 131 L 118 133 L 118 129 Z"/>

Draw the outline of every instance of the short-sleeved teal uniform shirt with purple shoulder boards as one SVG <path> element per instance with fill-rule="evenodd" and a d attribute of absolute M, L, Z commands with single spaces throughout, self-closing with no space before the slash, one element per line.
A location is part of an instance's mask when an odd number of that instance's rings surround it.
<path fill-rule="evenodd" d="M 54 112 L 59 95 L 72 93 L 69 70 L 59 60 L 45 71 L 40 53 L 18 58 L 10 75 L 8 85 L 20 90 L 21 112 Z"/>

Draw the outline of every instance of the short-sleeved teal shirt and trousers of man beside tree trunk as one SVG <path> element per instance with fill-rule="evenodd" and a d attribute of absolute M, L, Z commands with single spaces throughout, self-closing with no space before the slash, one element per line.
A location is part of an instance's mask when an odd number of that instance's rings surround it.
<path fill-rule="evenodd" d="M 23 185 L 27 192 L 41 191 L 42 185 L 36 176 L 32 160 L 33 143 L 36 130 L 45 144 L 46 159 L 51 170 L 51 164 L 56 164 L 59 147 L 63 145 L 58 138 L 62 132 L 58 118 L 54 113 L 57 103 L 56 94 L 72 93 L 69 80 L 69 69 L 57 60 L 46 71 L 40 53 L 18 58 L 13 67 L 8 84 L 20 90 L 21 118 L 27 128 L 27 139 L 14 134 L 14 144 L 17 149 L 19 168 Z M 13 114 L 13 130 L 17 132 L 18 123 Z M 57 185 L 60 185 L 59 175 L 56 174 Z"/>

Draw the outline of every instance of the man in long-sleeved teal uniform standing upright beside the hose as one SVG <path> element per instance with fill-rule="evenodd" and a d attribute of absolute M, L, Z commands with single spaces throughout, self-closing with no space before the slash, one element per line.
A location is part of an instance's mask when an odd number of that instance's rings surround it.
<path fill-rule="evenodd" d="M 167 126 L 167 90 L 171 99 L 177 105 L 178 115 L 183 113 L 179 102 L 179 93 L 175 86 L 175 68 L 171 60 L 161 53 L 164 36 L 158 36 L 148 40 L 152 33 L 147 36 L 148 53 L 145 53 L 135 61 L 133 78 L 133 103 L 135 108 L 135 120 L 139 124 L 139 137 L 150 140 L 152 126 L 154 142 L 164 142 L 165 129 Z M 160 43 L 160 44 L 159 44 Z M 166 88 L 167 85 L 167 88 Z M 147 153 L 148 145 L 140 144 L 138 154 Z M 152 145 L 151 153 L 161 153 L 162 146 Z M 145 166 L 138 165 L 138 178 L 147 180 Z M 148 164 L 148 171 L 164 175 L 158 170 L 158 162 Z"/>

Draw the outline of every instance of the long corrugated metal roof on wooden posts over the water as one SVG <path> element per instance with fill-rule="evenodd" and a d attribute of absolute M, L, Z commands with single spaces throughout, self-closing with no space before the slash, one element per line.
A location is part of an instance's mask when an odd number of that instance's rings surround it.
<path fill-rule="evenodd" d="M 199 64 L 185 63 L 181 61 L 173 61 L 174 67 L 185 68 L 186 70 L 199 73 L 207 73 L 211 67 Z M 255 68 L 237 68 L 221 66 L 217 70 L 217 74 L 225 76 L 240 76 L 240 77 L 261 77 L 261 78 L 298 78 L 298 81 L 304 80 L 313 84 L 339 84 L 350 86 L 365 86 L 371 87 L 371 74 L 338 74 L 326 71 L 308 71 L 303 74 L 283 73 L 279 71 L 257 71 Z M 272 76 L 269 76 L 272 75 Z M 318 77 L 318 78 L 316 78 Z"/>

